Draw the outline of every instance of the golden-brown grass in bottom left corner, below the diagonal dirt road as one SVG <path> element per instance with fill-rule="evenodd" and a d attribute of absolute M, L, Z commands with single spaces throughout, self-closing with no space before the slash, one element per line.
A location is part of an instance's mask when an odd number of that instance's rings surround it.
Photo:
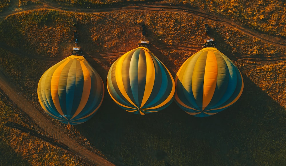
<path fill-rule="evenodd" d="M 30 133 L 8 127 L 17 123 L 42 134 L 29 116 L 0 91 L 0 165 L 86 165 L 80 158 Z"/>

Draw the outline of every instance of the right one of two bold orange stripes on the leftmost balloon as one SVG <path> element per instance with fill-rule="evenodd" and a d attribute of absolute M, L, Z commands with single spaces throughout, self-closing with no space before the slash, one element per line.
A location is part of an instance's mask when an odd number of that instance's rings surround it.
<path fill-rule="evenodd" d="M 82 109 L 84 109 L 84 106 L 86 106 L 86 103 L 88 102 L 88 97 L 90 95 L 90 89 L 91 89 L 91 79 L 90 79 L 90 73 L 88 69 L 86 68 L 86 65 L 84 65 L 83 61 L 80 61 L 80 65 L 82 67 L 82 72 L 84 75 L 84 88 L 82 90 L 82 97 L 80 99 L 80 104 L 78 105 L 78 109 L 74 113 L 74 116 L 71 118 L 71 120 L 76 117 Z"/>

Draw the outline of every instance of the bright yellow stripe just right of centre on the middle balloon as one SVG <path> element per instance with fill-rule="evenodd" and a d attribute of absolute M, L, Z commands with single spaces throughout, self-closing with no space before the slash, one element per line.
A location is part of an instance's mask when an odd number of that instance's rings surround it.
<path fill-rule="evenodd" d="M 152 92 L 153 86 L 154 86 L 154 81 L 155 81 L 155 67 L 154 67 L 154 62 L 152 60 L 151 55 L 149 54 L 148 51 L 145 51 L 145 55 L 146 55 L 146 84 L 145 84 L 145 90 L 144 90 L 144 95 L 143 95 L 143 99 L 142 99 L 142 103 L 140 108 L 142 108 L 144 106 L 144 104 L 146 103 L 146 101 L 149 99 L 150 94 Z"/>

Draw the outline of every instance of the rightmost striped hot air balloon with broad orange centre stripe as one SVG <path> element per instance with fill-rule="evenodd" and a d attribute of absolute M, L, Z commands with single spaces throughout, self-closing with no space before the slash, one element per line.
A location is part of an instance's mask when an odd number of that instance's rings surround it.
<path fill-rule="evenodd" d="M 235 103 L 243 91 L 243 78 L 233 62 L 214 47 L 188 58 L 175 78 L 175 102 L 190 115 L 214 115 Z"/>

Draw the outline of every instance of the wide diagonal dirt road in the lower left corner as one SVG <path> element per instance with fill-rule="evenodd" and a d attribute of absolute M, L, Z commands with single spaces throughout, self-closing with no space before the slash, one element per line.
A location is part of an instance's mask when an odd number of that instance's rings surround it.
<path fill-rule="evenodd" d="M 62 144 L 63 147 L 68 147 L 71 151 L 92 163 L 92 165 L 106 165 L 113 166 L 114 164 L 107 161 L 103 157 L 96 154 L 86 147 L 80 145 L 76 140 L 70 138 L 65 133 L 61 132 L 51 121 L 49 121 L 42 111 L 39 111 L 31 102 L 25 97 L 18 95 L 17 87 L 13 85 L 12 81 L 7 79 L 0 70 L 0 89 L 11 99 L 22 111 L 27 113 L 29 117 L 41 128 L 46 134 L 53 138 L 53 140 Z M 64 148 L 66 149 L 66 148 Z"/>

